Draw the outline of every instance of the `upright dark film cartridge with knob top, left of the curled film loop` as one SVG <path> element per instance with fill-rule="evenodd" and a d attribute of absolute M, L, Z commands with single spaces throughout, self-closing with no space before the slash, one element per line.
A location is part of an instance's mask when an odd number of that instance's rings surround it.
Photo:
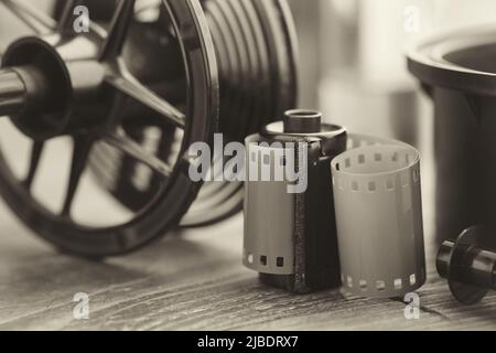
<path fill-rule="evenodd" d="M 296 293 L 339 287 L 333 196 L 323 191 L 346 131 L 321 124 L 319 113 L 292 110 L 246 145 L 245 266 Z"/>

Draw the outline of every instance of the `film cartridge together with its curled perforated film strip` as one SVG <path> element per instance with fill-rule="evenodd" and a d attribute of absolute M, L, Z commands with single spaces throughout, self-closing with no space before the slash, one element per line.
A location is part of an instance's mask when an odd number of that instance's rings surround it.
<path fill-rule="evenodd" d="M 320 117 L 289 111 L 284 129 L 269 125 L 247 139 L 248 158 L 269 165 L 272 179 L 246 183 L 245 266 L 299 293 L 342 282 L 376 298 L 414 291 L 425 281 L 418 151 L 321 126 Z M 273 141 L 309 146 L 305 192 L 289 193 L 288 180 L 273 179 L 294 147 L 251 146 Z"/>

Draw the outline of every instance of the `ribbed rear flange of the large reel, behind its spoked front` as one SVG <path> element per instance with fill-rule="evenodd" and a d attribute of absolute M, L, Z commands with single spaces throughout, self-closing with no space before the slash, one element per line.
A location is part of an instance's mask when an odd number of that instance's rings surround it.
<path fill-rule="evenodd" d="M 219 131 L 229 141 L 242 141 L 296 105 L 296 44 L 290 10 L 283 0 L 204 0 L 201 4 L 218 64 Z M 141 23 L 137 31 L 148 33 L 154 26 L 154 22 Z M 136 41 L 149 35 L 137 35 Z M 160 38 L 155 35 L 151 44 L 160 45 Z M 130 46 L 142 45 L 131 42 Z M 130 50 L 129 57 L 133 53 Z M 172 96 L 183 104 L 181 95 Z M 129 117 L 126 124 L 128 135 L 151 153 L 162 160 L 176 158 L 181 130 L 163 127 L 154 116 Z M 94 149 L 90 167 L 101 185 L 132 211 L 147 204 L 160 185 L 160 175 L 104 143 Z M 242 183 L 206 182 L 181 225 L 202 226 L 226 218 L 242 208 Z"/>

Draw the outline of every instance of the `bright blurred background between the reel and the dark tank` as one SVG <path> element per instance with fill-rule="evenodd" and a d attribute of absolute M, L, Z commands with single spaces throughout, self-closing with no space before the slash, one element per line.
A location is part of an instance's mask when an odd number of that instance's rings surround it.
<path fill-rule="evenodd" d="M 23 1 L 53 12 L 53 0 Z M 348 131 L 397 138 L 418 147 L 425 214 L 434 218 L 430 202 L 435 189 L 433 107 L 407 71 L 406 49 L 430 33 L 494 22 L 496 1 L 289 2 L 300 44 L 300 106 L 322 110 L 327 122 Z M 12 17 L 1 19 L 0 39 L 20 35 L 19 30 L 11 31 Z M 428 235 L 433 232 L 432 223 L 425 220 Z"/>

